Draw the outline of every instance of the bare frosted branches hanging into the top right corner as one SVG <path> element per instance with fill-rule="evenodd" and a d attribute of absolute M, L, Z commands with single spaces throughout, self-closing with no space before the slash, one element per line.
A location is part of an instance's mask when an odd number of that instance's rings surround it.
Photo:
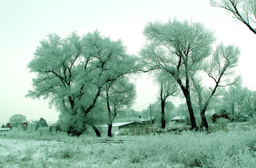
<path fill-rule="evenodd" d="M 245 24 L 250 31 L 256 34 L 256 1 L 255 0 L 210 0 L 211 6 L 220 7 L 227 13 Z"/>

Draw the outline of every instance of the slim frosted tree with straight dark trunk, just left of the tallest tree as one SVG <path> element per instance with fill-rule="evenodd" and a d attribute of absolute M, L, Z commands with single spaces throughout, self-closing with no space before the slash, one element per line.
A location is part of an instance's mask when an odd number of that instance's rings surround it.
<path fill-rule="evenodd" d="M 165 128 L 165 105 L 168 102 L 170 96 L 176 96 L 179 93 L 176 87 L 176 81 L 169 73 L 162 71 L 155 73 L 154 81 L 158 88 L 158 100 L 161 103 L 161 128 Z"/>

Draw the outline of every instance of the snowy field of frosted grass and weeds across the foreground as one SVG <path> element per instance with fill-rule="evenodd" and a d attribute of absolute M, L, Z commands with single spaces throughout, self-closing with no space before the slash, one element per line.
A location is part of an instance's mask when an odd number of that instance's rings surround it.
<path fill-rule="evenodd" d="M 123 140 L 120 144 L 95 142 L 96 137 L 87 136 L 54 136 L 56 140 L 46 141 L 32 140 L 24 131 L 5 134 L 0 137 L 0 168 L 256 167 L 256 125 L 230 125 L 209 134 L 115 136 Z"/>

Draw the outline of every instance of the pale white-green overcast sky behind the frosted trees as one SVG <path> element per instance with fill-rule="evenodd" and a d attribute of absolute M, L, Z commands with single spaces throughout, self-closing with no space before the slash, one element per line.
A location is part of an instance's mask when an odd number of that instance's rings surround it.
<path fill-rule="evenodd" d="M 176 16 L 200 21 L 215 30 L 217 43 L 235 44 L 242 53 L 237 74 L 241 74 L 249 89 L 256 89 L 255 39 L 244 24 L 232 15 L 212 7 L 208 0 L 101 0 L 101 1 L 0 1 L 0 124 L 6 124 L 14 114 L 25 115 L 27 120 L 40 117 L 54 122 L 59 113 L 49 109 L 47 100 L 31 100 L 25 95 L 31 87 L 34 74 L 26 65 L 33 58 L 39 42 L 49 33 L 66 37 L 73 31 L 79 35 L 98 29 L 111 39 L 122 39 L 130 54 L 137 54 L 145 43 L 142 35 L 149 21 L 163 21 Z M 137 79 L 137 103 L 135 110 L 142 110 L 154 103 L 157 88 L 153 82 Z M 177 105 L 179 100 L 175 100 Z"/>

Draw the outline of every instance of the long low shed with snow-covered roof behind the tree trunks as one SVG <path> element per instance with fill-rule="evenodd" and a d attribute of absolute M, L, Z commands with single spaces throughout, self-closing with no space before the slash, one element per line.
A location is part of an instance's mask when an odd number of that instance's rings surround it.
<path fill-rule="evenodd" d="M 133 122 L 114 122 L 112 123 L 112 131 L 119 131 L 119 129 L 122 129 L 122 128 L 129 128 L 129 127 L 133 127 L 133 126 L 145 126 L 146 124 L 145 123 L 140 123 L 140 122 L 136 122 L 136 121 L 133 121 Z M 108 125 L 101 125 L 99 126 L 103 129 L 108 129 Z"/>

